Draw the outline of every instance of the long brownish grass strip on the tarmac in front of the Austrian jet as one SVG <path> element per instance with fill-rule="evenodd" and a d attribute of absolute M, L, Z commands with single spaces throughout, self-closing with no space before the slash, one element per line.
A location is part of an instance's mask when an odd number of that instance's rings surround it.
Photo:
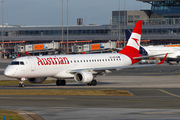
<path fill-rule="evenodd" d="M 81 96 L 133 96 L 126 90 L 0 90 L 0 95 L 81 95 Z"/>

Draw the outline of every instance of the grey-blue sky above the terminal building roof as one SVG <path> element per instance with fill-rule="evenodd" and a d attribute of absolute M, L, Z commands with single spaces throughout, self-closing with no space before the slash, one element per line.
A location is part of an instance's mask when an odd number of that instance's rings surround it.
<path fill-rule="evenodd" d="M 62 25 L 62 0 L 4 0 L 4 23 L 9 25 Z M 0 3 L 0 11 L 2 3 Z M 63 2 L 63 21 L 67 24 L 67 0 Z M 77 18 L 83 24 L 109 24 L 113 10 L 119 10 L 119 0 L 68 0 L 68 23 L 76 25 Z M 148 3 L 125 0 L 126 10 L 149 9 Z M 124 0 L 120 0 L 124 10 Z M 2 24 L 2 13 L 0 13 Z"/>

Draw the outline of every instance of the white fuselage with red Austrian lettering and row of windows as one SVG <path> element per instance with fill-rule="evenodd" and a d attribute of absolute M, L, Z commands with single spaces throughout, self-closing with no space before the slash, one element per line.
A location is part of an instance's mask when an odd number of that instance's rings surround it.
<path fill-rule="evenodd" d="M 10 64 L 4 74 L 13 78 L 74 77 L 69 71 L 77 69 L 93 69 L 115 66 L 128 66 L 131 59 L 123 54 L 80 54 L 54 56 L 28 56 L 14 59 L 12 62 L 24 64 Z"/>

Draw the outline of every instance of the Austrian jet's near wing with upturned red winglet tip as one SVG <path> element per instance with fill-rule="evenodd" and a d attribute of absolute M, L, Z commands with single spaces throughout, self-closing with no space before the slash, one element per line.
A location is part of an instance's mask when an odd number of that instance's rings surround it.
<path fill-rule="evenodd" d="M 168 53 L 166 54 L 166 56 L 163 58 L 163 60 L 157 64 L 150 64 L 150 65 L 131 65 L 131 66 L 115 66 L 115 67 L 101 67 L 101 68 L 84 68 L 84 69 L 75 69 L 75 70 L 70 70 L 69 72 L 74 74 L 76 72 L 80 72 L 80 71 L 104 71 L 104 70 L 120 70 L 123 68 L 137 68 L 137 67 L 150 67 L 150 66 L 155 66 L 155 65 L 160 65 L 162 64 L 166 57 L 167 57 Z"/>

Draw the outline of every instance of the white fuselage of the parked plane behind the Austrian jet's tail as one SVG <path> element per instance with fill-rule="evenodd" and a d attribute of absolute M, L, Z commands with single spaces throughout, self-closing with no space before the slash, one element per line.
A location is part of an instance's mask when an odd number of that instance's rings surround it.
<path fill-rule="evenodd" d="M 156 55 L 162 54 L 159 56 L 155 56 L 157 58 L 163 58 L 166 53 L 169 53 L 167 58 L 179 58 L 180 57 L 180 48 L 178 47 L 156 47 L 156 46 L 149 46 L 143 47 L 148 55 Z"/>

